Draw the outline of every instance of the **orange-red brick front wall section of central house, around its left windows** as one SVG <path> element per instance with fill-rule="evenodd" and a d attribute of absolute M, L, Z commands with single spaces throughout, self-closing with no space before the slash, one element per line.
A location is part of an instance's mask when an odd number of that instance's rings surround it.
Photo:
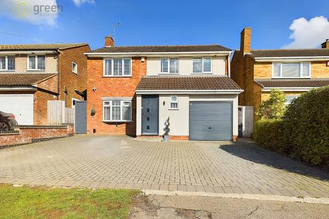
<path fill-rule="evenodd" d="M 132 58 L 132 77 L 103 77 L 103 58 L 88 58 L 88 101 L 87 101 L 87 132 L 110 133 L 114 135 L 136 135 L 136 95 L 135 89 L 141 77 L 146 75 L 146 58 Z M 93 88 L 97 90 L 93 92 Z M 103 97 L 131 96 L 132 123 L 103 123 Z M 90 110 L 96 110 L 95 116 Z"/>

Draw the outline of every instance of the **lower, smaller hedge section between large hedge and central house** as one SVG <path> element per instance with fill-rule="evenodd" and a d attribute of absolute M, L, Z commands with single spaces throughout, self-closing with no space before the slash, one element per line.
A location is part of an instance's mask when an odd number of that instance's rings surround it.
<path fill-rule="evenodd" d="M 255 125 L 254 139 L 256 144 L 277 153 L 287 154 L 288 144 L 285 141 L 284 121 L 280 119 L 258 120 Z"/>

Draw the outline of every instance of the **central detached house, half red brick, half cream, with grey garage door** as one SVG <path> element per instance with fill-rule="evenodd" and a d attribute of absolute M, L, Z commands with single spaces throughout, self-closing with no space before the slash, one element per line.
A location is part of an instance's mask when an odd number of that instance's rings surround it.
<path fill-rule="evenodd" d="M 86 53 L 88 133 L 231 140 L 238 134 L 232 51 L 218 44 L 105 47 Z M 169 123 L 169 124 L 168 124 Z"/>

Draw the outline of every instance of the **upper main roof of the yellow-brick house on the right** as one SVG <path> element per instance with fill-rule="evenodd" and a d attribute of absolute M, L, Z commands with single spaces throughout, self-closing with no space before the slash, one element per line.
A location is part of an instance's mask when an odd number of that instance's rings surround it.
<path fill-rule="evenodd" d="M 329 56 L 329 49 L 255 49 L 254 57 L 308 57 Z"/>

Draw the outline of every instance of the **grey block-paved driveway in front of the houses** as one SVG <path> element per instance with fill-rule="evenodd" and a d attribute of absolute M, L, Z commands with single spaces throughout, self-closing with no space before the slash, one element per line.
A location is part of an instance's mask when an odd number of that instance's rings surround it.
<path fill-rule="evenodd" d="M 329 175 L 246 141 L 75 136 L 0 150 L 0 183 L 329 197 Z"/>

